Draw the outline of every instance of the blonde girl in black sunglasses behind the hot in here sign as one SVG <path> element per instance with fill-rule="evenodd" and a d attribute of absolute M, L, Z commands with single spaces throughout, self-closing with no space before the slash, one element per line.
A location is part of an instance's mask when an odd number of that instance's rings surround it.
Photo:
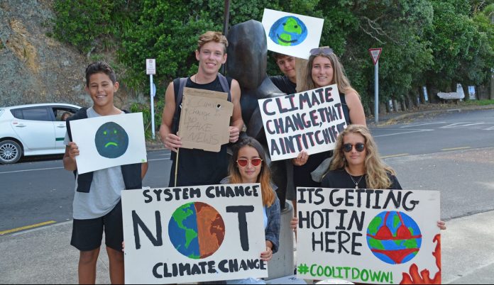
<path fill-rule="evenodd" d="M 350 125 L 336 140 L 334 157 L 322 181 L 323 188 L 334 189 L 396 189 L 402 186 L 395 171 L 380 160 L 378 147 L 363 125 Z M 298 220 L 292 219 L 296 229 Z M 439 220 L 437 226 L 446 230 L 446 224 Z"/>

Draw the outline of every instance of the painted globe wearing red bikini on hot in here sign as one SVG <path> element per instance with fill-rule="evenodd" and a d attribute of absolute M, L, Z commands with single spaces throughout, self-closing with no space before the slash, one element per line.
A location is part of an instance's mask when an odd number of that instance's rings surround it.
<path fill-rule="evenodd" d="M 367 228 L 367 245 L 378 259 L 402 264 L 413 259 L 422 245 L 422 233 L 415 220 L 398 211 L 375 216 Z"/>

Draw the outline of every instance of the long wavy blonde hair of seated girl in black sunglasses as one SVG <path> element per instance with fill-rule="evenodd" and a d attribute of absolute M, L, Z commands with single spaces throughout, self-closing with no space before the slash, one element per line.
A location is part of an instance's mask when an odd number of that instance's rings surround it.
<path fill-rule="evenodd" d="M 395 170 L 384 164 L 380 159 L 378 146 L 375 144 L 369 129 L 364 125 L 349 125 L 336 140 L 336 149 L 329 170 L 342 169 L 348 166 L 343 151 L 345 135 L 354 133 L 363 136 L 366 145 L 367 156 L 364 161 L 366 168 L 366 181 L 369 189 L 388 189 L 393 183 L 388 174 L 396 175 Z"/>

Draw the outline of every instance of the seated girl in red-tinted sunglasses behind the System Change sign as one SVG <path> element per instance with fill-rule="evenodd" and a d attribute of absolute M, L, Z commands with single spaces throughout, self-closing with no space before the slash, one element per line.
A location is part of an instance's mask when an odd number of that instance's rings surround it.
<path fill-rule="evenodd" d="M 266 164 L 263 146 L 250 137 L 239 140 L 233 147 L 229 165 L 229 177 L 221 184 L 260 183 L 263 196 L 263 223 L 266 250 L 260 258 L 268 262 L 278 252 L 280 245 L 280 200 L 276 196 L 276 186 L 271 182 L 271 172 Z M 261 279 L 229 280 L 226 284 L 265 284 Z"/>

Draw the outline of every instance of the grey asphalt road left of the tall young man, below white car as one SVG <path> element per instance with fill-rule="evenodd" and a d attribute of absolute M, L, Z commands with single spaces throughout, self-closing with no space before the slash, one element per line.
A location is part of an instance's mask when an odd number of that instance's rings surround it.
<path fill-rule="evenodd" d="M 72 220 L 74 176 L 57 160 L 0 165 L 0 235 L 9 230 Z M 148 153 L 149 172 L 143 184 L 168 185 L 170 152 Z"/>

